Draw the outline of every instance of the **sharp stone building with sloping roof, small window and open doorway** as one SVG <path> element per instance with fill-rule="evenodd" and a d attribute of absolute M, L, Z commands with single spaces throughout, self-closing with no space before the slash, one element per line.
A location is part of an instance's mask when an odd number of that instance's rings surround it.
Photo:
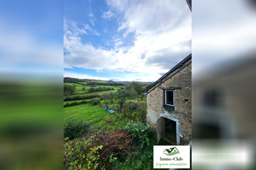
<path fill-rule="evenodd" d="M 192 140 L 192 54 L 144 90 L 147 125 L 173 145 Z"/>

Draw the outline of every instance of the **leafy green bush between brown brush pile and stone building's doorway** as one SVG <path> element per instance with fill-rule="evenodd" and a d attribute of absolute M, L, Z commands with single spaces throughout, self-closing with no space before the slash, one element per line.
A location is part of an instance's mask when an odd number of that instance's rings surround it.
<path fill-rule="evenodd" d="M 126 124 L 124 129 L 131 132 L 133 137 L 140 142 L 140 148 L 144 148 L 144 146 L 149 145 L 149 128 L 140 121 L 130 121 L 128 124 Z"/>

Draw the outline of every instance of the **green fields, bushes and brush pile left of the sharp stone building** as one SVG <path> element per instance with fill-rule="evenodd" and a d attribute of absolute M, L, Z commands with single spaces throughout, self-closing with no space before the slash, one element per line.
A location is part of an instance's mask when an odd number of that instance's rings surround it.
<path fill-rule="evenodd" d="M 141 95 L 150 84 L 67 81 L 78 92 L 64 97 L 66 102 L 74 100 L 64 105 L 65 127 L 70 121 L 69 127 L 76 129 L 69 135 L 64 132 L 68 136 L 64 141 L 64 169 L 152 169 L 152 148 L 157 140 L 154 130 L 145 125 L 146 102 Z M 95 92 L 108 88 L 111 91 Z M 105 111 L 106 106 L 114 113 Z M 71 123 L 76 119 L 80 121 Z M 76 126 L 78 122 L 87 122 L 85 128 Z"/>

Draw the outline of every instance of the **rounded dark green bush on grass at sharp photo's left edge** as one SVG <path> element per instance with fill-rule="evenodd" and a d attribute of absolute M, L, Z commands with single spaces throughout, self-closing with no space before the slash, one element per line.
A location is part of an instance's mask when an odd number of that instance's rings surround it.
<path fill-rule="evenodd" d="M 74 139 L 79 134 L 88 131 L 90 124 L 81 119 L 68 119 L 64 124 L 64 138 Z"/>

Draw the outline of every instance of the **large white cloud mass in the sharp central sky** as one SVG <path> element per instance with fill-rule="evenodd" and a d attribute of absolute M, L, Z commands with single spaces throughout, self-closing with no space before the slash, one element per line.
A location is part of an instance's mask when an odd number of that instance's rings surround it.
<path fill-rule="evenodd" d="M 113 49 L 95 47 L 81 41 L 75 24 L 67 24 L 66 67 L 149 73 L 147 79 L 151 80 L 191 53 L 191 12 L 185 1 L 108 1 L 108 4 L 119 16 L 123 14 L 116 31 L 123 32 L 123 37 L 133 32 L 133 46 L 125 46 L 125 40 L 119 37 L 114 39 Z M 102 18 L 113 15 L 109 10 Z"/>

